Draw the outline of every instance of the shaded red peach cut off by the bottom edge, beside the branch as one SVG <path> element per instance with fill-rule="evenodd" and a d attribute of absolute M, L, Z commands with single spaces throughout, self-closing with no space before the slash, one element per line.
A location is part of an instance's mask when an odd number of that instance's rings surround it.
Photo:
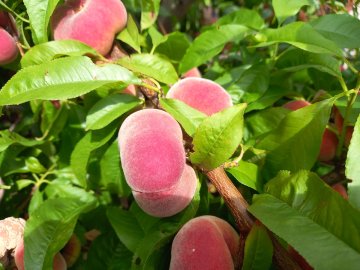
<path fill-rule="evenodd" d="M 226 221 L 200 216 L 187 222 L 172 243 L 170 270 L 233 270 L 239 236 Z"/>

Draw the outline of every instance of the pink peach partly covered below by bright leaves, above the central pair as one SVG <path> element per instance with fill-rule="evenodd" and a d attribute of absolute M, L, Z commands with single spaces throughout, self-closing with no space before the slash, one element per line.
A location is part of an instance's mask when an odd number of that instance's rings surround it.
<path fill-rule="evenodd" d="M 181 100 L 207 115 L 233 105 L 230 95 L 219 84 L 195 77 L 179 80 L 170 88 L 166 97 Z"/>

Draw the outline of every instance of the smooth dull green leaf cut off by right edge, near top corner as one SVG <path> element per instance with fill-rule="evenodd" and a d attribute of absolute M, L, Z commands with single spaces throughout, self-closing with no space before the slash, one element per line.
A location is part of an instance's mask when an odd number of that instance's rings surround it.
<path fill-rule="evenodd" d="M 360 21 L 348 14 L 328 14 L 311 22 L 311 25 L 340 48 L 360 47 Z"/>

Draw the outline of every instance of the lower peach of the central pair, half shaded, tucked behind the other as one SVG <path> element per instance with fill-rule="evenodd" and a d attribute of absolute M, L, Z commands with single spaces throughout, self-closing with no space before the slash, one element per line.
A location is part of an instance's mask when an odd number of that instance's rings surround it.
<path fill-rule="evenodd" d="M 155 217 L 169 217 L 181 212 L 194 197 L 197 178 L 192 167 L 186 165 L 179 183 L 170 190 L 141 193 L 133 191 L 140 208 Z"/>

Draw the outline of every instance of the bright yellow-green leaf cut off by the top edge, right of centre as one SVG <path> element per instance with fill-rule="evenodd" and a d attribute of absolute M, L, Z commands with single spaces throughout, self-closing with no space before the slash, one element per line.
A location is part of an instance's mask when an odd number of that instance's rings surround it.
<path fill-rule="evenodd" d="M 294 16 L 303 6 L 310 6 L 310 0 L 273 0 L 275 16 L 282 24 L 286 18 Z"/>

